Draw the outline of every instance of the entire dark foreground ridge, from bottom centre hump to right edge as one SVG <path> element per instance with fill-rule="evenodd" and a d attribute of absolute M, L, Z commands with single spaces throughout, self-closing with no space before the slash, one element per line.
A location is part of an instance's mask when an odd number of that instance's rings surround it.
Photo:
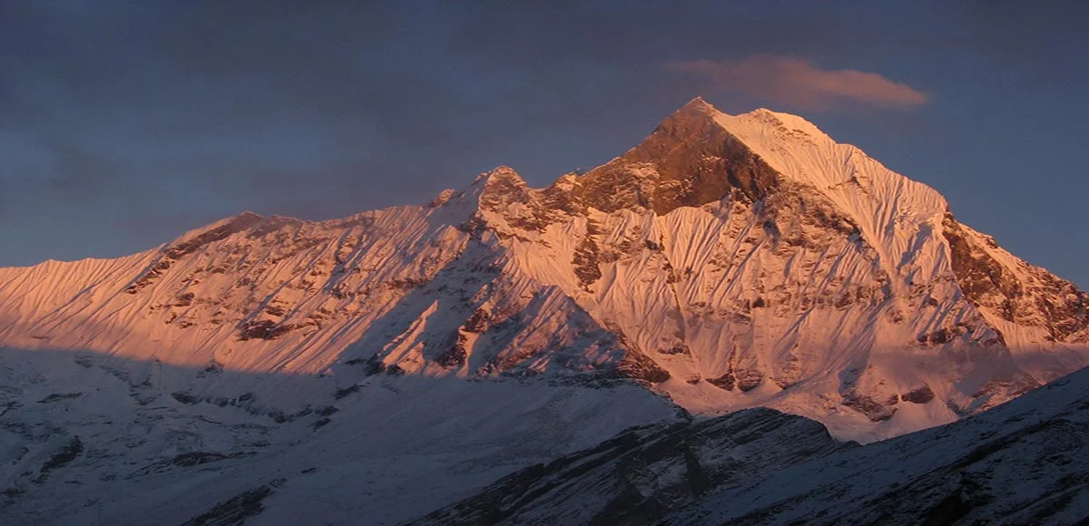
<path fill-rule="evenodd" d="M 1085 524 L 1087 390 L 1089 369 L 861 448 L 763 408 L 648 426 L 408 524 Z"/>

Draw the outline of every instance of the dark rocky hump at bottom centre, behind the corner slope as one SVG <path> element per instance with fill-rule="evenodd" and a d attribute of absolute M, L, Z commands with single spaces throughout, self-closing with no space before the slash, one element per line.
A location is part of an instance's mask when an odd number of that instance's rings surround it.
<path fill-rule="evenodd" d="M 717 488 L 854 447 L 816 421 L 764 408 L 646 426 L 514 473 L 407 524 L 653 524 Z"/>

